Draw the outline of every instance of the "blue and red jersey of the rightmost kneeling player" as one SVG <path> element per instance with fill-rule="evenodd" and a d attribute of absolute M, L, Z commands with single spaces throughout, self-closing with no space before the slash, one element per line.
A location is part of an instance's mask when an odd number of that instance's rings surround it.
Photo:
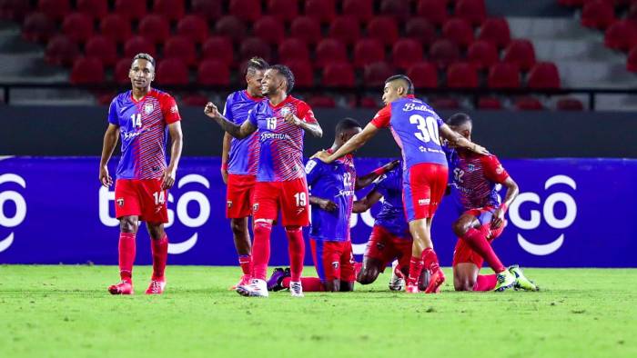
<path fill-rule="evenodd" d="M 509 174 L 495 155 L 448 150 L 452 195 L 462 212 L 485 206 L 500 205 L 497 184 Z"/>

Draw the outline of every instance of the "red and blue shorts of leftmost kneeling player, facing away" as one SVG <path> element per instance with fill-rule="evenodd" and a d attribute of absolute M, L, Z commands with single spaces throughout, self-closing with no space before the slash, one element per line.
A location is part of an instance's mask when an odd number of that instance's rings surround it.
<path fill-rule="evenodd" d="M 353 283 L 356 281 L 354 272 L 356 262 L 349 240 L 324 241 L 310 238 L 309 244 L 312 248 L 314 267 L 317 269 L 321 282 L 340 280 Z"/>

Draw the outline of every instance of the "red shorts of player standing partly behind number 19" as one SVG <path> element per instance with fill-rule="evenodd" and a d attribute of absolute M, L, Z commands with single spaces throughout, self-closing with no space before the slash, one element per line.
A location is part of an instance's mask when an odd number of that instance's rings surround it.
<path fill-rule="evenodd" d="M 240 219 L 248 217 L 252 212 L 255 175 L 227 174 L 226 217 Z"/>

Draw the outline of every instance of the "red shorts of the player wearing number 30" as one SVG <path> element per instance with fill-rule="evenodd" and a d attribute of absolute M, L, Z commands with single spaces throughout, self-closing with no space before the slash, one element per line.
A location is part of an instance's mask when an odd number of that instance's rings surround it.
<path fill-rule="evenodd" d="M 447 189 L 447 167 L 421 163 L 408 170 L 402 192 L 407 221 L 433 217 Z"/>

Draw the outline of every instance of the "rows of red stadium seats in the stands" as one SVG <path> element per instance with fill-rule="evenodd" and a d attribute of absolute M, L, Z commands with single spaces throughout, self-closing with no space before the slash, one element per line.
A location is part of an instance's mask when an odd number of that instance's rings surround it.
<path fill-rule="evenodd" d="M 632 20 L 613 11 L 628 1 L 560 2 L 583 6 L 582 24 L 606 28 L 612 48 L 637 45 Z M 146 52 L 161 85 L 237 86 L 259 55 L 290 65 L 299 88 L 374 89 L 396 73 L 422 88 L 560 87 L 557 67 L 536 62 L 531 42 L 511 39 L 484 0 L 0 0 L 0 17 L 44 44 L 47 62 L 71 68 L 74 84 L 126 84 L 126 63 Z M 637 49 L 629 59 L 637 70 Z M 314 102 L 334 104 L 326 98 Z M 494 97 L 477 103 L 501 108 Z M 536 108 L 528 98 L 516 106 Z"/>

